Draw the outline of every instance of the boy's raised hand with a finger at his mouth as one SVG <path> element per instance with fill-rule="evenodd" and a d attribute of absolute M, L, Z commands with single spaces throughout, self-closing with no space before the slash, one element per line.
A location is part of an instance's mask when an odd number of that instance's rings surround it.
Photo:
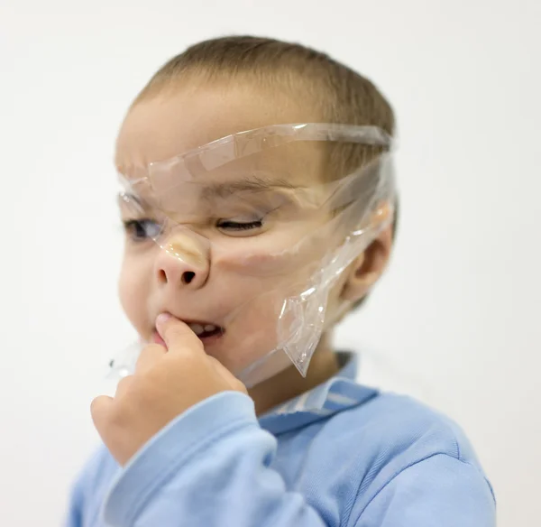
<path fill-rule="evenodd" d="M 124 465 L 151 437 L 197 402 L 244 385 L 214 357 L 184 322 L 160 315 L 157 329 L 168 350 L 142 350 L 135 373 L 124 377 L 115 397 L 102 395 L 91 406 L 96 430 L 113 457 Z"/>

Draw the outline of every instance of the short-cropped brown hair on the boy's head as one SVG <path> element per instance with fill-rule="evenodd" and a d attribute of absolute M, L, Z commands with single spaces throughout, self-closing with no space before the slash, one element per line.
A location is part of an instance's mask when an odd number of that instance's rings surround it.
<path fill-rule="evenodd" d="M 179 81 L 250 79 L 267 89 L 288 90 L 298 103 L 309 100 L 316 120 L 344 125 L 378 126 L 394 134 L 395 118 L 389 101 L 369 79 L 298 43 L 232 36 L 199 42 L 166 62 L 136 97 L 133 105 Z M 344 174 L 381 153 L 381 149 L 339 143 L 329 150 L 329 163 Z"/>

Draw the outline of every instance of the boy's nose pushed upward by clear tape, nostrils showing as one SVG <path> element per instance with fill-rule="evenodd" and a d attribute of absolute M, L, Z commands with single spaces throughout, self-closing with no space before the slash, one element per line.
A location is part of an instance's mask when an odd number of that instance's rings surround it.
<path fill-rule="evenodd" d="M 160 283 L 193 290 L 205 285 L 210 268 L 206 238 L 191 231 L 173 233 L 161 248 L 156 258 Z"/>

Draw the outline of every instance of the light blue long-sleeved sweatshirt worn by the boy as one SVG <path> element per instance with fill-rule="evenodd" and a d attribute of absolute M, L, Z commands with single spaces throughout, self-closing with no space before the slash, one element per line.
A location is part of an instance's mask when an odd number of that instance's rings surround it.
<path fill-rule="evenodd" d="M 414 400 L 339 375 L 258 418 L 226 392 L 160 430 L 124 467 L 100 449 L 68 527 L 494 527 L 463 432 Z"/>

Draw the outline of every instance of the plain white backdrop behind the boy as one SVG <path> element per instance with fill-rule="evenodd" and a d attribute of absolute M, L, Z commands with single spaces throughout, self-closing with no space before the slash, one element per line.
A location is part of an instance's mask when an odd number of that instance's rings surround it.
<path fill-rule="evenodd" d="M 0 525 L 58 525 L 88 406 L 133 340 L 111 162 L 126 106 L 188 44 L 294 40 L 373 79 L 399 120 L 390 270 L 340 328 L 361 378 L 449 413 L 501 527 L 541 524 L 537 0 L 1 0 Z"/>

